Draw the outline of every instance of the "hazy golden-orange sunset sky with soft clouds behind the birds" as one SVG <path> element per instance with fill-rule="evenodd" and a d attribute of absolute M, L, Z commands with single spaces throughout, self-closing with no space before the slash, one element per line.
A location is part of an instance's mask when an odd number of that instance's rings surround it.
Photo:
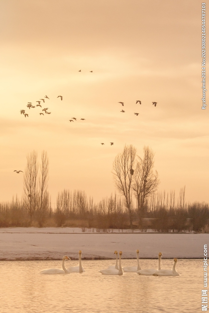
<path fill-rule="evenodd" d="M 185 186 L 186 201 L 209 201 L 201 1 L 2 0 L 0 15 L 0 201 L 21 197 L 13 171 L 45 150 L 52 203 L 64 188 L 97 202 L 115 191 L 125 144 L 141 157 L 153 149 L 159 191 Z"/>

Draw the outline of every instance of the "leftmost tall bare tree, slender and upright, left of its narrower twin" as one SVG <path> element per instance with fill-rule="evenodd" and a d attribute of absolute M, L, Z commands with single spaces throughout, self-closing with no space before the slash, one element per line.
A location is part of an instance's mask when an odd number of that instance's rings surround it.
<path fill-rule="evenodd" d="M 37 152 L 34 150 L 27 155 L 27 165 L 24 171 L 24 204 L 32 218 L 38 203 L 37 175 L 38 175 Z"/>

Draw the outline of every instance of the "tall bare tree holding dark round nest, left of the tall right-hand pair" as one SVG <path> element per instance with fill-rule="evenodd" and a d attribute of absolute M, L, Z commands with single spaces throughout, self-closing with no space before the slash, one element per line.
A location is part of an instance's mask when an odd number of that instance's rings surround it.
<path fill-rule="evenodd" d="M 124 196 L 125 204 L 128 209 L 129 222 L 132 227 L 132 182 L 133 167 L 136 156 L 136 148 L 132 145 L 125 145 L 123 152 L 119 153 L 113 162 L 113 176 L 119 193 Z"/>

